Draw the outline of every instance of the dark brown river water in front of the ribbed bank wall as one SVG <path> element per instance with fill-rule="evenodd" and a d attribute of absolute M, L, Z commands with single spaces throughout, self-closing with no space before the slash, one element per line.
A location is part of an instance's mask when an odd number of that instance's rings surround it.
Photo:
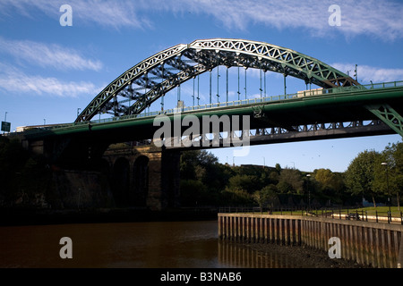
<path fill-rule="evenodd" d="M 72 239 L 72 259 L 59 255 L 63 237 Z M 7 226 L 0 240 L 2 268 L 294 266 L 242 244 L 228 247 L 216 221 Z"/>

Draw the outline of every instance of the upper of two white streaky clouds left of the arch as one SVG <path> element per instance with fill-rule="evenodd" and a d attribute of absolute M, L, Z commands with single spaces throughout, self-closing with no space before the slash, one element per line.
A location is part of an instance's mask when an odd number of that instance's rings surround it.
<path fill-rule="evenodd" d="M 99 71 L 102 63 L 85 59 L 77 51 L 56 44 L 43 44 L 29 40 L 8 40 L 0 37 L 0 53 L 17 59 L 58 70 Z"/>

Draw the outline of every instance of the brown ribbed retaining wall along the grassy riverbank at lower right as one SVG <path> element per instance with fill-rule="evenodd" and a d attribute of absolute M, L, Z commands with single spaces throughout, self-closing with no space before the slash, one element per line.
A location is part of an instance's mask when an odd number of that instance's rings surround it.
<path fill-rule="evenodd" d="M 403 225 L 272 214 L 219 214 L 219 239 L 306 245 L 328 252 L 338 237 L 341 257 L 373 267 L 395 268 L 403 259 Z"/>

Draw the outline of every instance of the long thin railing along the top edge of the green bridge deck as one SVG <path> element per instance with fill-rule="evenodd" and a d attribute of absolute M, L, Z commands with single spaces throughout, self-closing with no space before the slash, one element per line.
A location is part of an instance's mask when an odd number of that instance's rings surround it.
<path fill-rule="evenodd" d="M 183 112 L 191 112 L 197 110 L 206 110 L 213 109 L 219 107 L 227 107 L 227 106 L 238 106 L 238 105 L 253 105 L 253 104 L 262 104 L 265 102 L 278 102 L 282 100 L 289 100 L 300 97 L 320 97 L 323 95 L 332 95 L 335 96 L 337 94 L 344 94 L 347 92 L 358 91 L 358 90 L 366 90 L 366 89 L 378 89 L 378 88 L 398 88 L 403 87 L 403 80 L 400 81 L 390 81 L 390 82 L 381 82 L 381 83 L 371 83 L 364 84 L 359 86 L 351 86 L 351 87 L 339 87 L 339 88 L 326 88 L 326 89 L 312 89 L 312 90 L 303 90 L 294 94 L 287 95 L 279 95 L 279 96 L 270 96 L 270 97 L 256 97 L 256 98 L 246 98 L 240 100 L 234 100 L 229 102 L 221 102 L 221 103 L 212 103 L 207 105 L 195 105 L 195 106 L 184 106 L 181 108 L 171 108 L 164 111 L 154 111 L 142 114 L 132 114 L 125 115 L 120 117 L 111 117 L 99 120 L 91 120 L 91 124 L 97 123 L 107 123 L 107 122 L 116 122 L 122 120 L 130 120 L 134 118 L 145 118 L 145 117 L 155 117 L 161 114 L 177 114 Z M 61 124 L 59 126 L 50 126 L 48 129 L 58 129 L 71 127 L 75 125 L 88 124 L 89 122 L 77 122 L 71 124 Z"/>

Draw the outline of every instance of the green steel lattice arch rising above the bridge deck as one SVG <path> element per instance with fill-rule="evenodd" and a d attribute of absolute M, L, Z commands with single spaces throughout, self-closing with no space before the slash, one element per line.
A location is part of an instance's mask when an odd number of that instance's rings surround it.
<path fill-rule="evenodd" d="M 99 113 L 140 114 L 169 90 L 219 65 L 275 71 L 322 88 L 359 85 L 330 65 L 285 47 L 244 39 L 201 39 L 167 48 L 124 71 L 75 122 L 90 121 Z"/>

